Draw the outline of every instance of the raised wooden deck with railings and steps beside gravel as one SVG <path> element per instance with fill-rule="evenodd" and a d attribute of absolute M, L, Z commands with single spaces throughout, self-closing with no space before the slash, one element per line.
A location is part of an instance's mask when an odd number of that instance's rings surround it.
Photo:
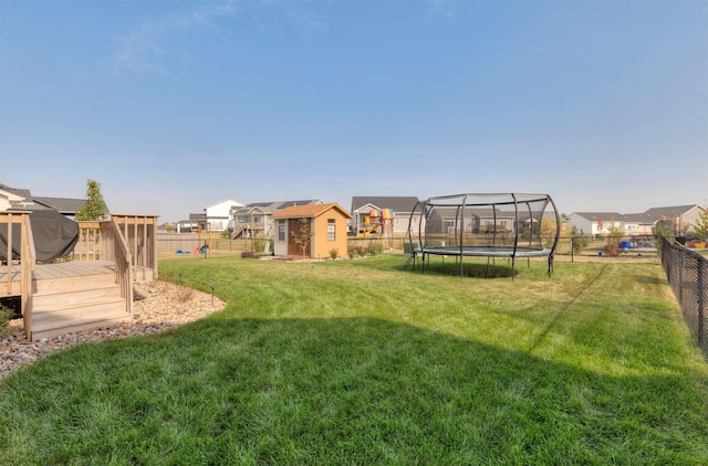
<path fill-rule="evenodd" d="M 0 257 L 14 261 L 0 265 L 0 298 L 20 299 L 12 306 L 22 311 L 27 338 L 129 320 L 133 284 L 157 277 L 157 216 L 112 214 L 79 222 L 71 261 L 37 264 L 31 213 L 0 212 L 0 227 L 8 232 Z"/>

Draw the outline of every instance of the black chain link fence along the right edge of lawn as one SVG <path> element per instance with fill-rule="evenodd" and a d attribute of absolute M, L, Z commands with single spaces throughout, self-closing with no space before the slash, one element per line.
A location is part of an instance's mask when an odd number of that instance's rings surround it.
<path fill-rule="evenodd" d="M 708 360 L 708 258 L 683 245 L 662 240 L 662 265 L 691 335 Z"/>

